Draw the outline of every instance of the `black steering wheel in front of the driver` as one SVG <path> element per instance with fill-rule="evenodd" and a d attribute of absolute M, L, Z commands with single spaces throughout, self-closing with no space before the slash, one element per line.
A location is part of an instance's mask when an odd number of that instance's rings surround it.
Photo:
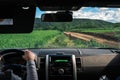
<path fill-rule="evenodd" d="M 24 55 L 24 51 L 22 50 L 18 50 L 18 49 L 7 49 L 7 50 L 3 50 L 0 52 L 0 56 L 1 56 L 1 61 L 4 63 L 4 57 L 9 56 L 9 55 L 18 55 L 21 56 L 22 59 L 22 55 Z M 25 61 L 25 60 L 24 60 Z M 26 62 L 26 61 L 25 61 Z M 4 67 L 2 68 L 2 71 L 6 71 L 8 69 L 12 69 L 13 72 L 16 75 L 19 75 L 20 77 L 23 77 L 23 73 L 21 72 L 21 70 L 26 71 L 26 65 L 22 65 L 22 64 L 6 64 L 4 65 Z"/>

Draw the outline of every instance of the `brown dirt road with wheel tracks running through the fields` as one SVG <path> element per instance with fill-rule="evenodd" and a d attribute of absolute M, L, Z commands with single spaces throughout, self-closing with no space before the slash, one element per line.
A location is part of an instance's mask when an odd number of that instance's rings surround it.
<path fill-rule="evenodd" d="M 114 40 L 108 40 L 107 38 L 100 38 L 97 36 L 83 34 L 83 33 L 64 32 L 64 34 L 71 38 L 74 37 L 74 38 L 84 40 L 84 41 L 96 40 L 96 42 L 98 42 L 98 43 L 106 44 L 106 45 L 109 45 L 112 47 L 120 45 L 120 42 L 116 42 Z"/>

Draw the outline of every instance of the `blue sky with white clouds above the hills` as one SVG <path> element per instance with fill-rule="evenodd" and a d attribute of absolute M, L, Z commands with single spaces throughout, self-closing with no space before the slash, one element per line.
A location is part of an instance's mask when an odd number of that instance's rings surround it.
<path fill-rule="evenodd" d="M 47 13 L 50 12 L 52 11 L 47 11 Z M 36 18 L 40 18 L 43 13 L 46 12 L 36 8 Z M 118 23 L 120 22 L 120 8 L 82 7 L 78 11 L 73 11 L 73 18 L 98 19 Z"/>

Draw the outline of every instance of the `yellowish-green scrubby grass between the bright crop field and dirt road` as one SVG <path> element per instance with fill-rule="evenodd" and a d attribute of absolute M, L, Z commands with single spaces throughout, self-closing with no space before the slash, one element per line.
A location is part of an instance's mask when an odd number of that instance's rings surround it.
<path fill-rule="evenodd" d="M 48 42 L 46 47 L 52 48 L 94 48 L 94 47 L 108 47 L 107 45 L 97 43 L 95 40 L 91 40 L 90 42 L 86 42 L 79 39 L 70 39 L 64 34 L 60 34 Z"/>

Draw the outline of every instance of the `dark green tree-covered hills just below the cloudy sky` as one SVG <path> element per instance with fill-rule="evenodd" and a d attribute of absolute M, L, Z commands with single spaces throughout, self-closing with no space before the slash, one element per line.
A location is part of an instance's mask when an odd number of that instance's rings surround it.
<path fill-rule="evenodd" d="M 74 19 L 72 22 L 41 22 L 40 18 L 36 18 L 34 29 L 41 30 L 60 30 L 71 31 L 80 29 L 112 29 L 120 28 L 120 23 L 111 23 L 103 20 L 91 19 Z"/>

